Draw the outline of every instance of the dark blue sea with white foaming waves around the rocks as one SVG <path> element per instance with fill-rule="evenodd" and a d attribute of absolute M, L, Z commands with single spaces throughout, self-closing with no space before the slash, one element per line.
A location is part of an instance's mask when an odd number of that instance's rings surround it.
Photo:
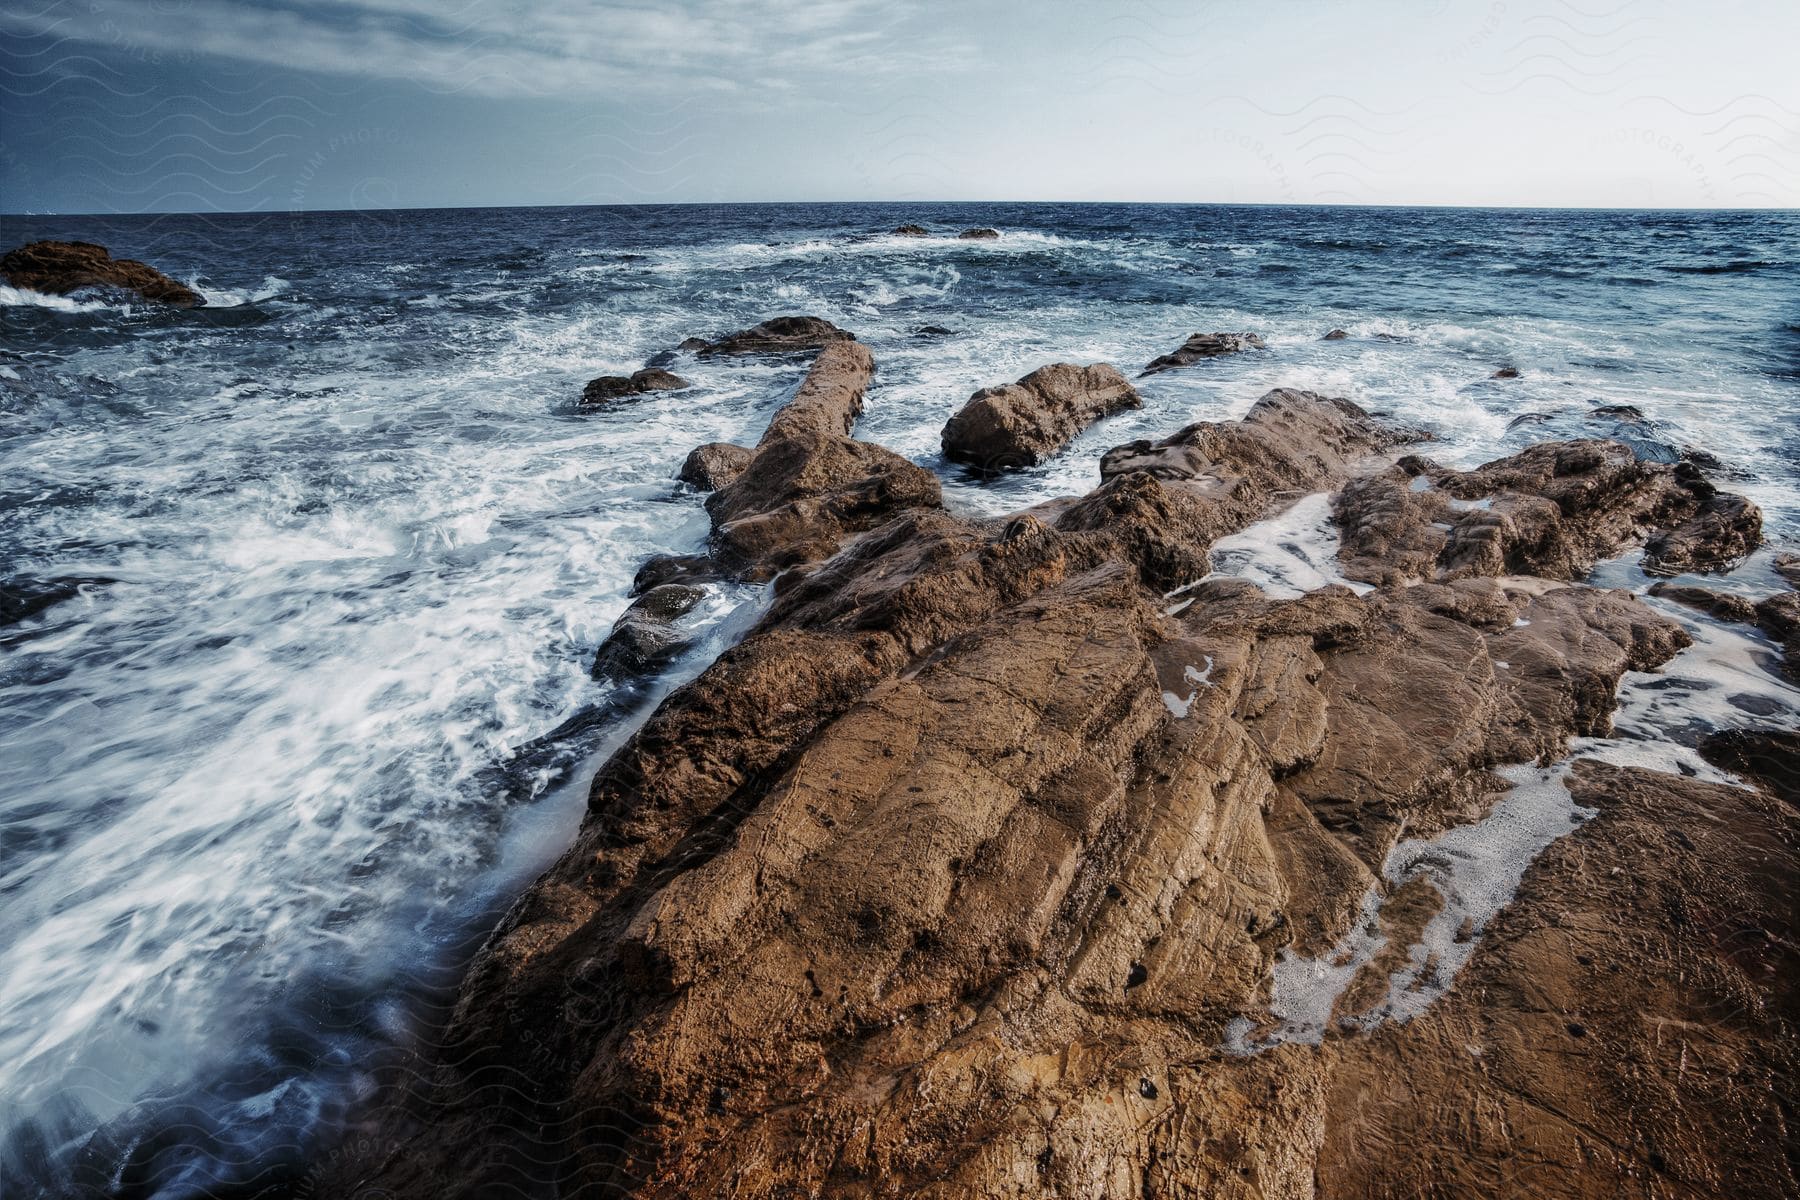
<path fill-rule="evenodd" d="M 886 232 L 902 221 L 943 236 Z M 954 239 L 968 225 L 1003 236 Z M 637 565 L 702 543 L 675 468 L 754 441 L 797 380 L 682 362 L 691 392 L 574 407 L 684 336 L 778 313 L 855 329 L 878 362 L 859 435 L 965 511 L 1084 491 L 1105 446 L 1296 385 L 1424 425 L 1454 464 L 1570 435 L 1710 455 L 1771 542 L 1800 540 L 1793 212 L 0 218 L 5 246 L 34 237 L 151 261 L 209 306 L 0 288 L 0 590 L 63 597 L 0 626 L 7 1196 L 292 1182 L 428 1025 L 643 709 L 587 664 Z M 1006 480 L 938 457 L 977 387 L 1134 369 L 1213 329 L 1269 349 L 1145 380 L 1141 412 Z M 1618 405 L 1642 417 L 1593 416 Z M 1768 561 L 1724 587 L 1771 590 Z M 1602 578 L 1643 583 L 1629 560 Z M 758 603 L 720 588 L 677 675 Z M 1701 633 L 1622 730 L 1793 725 L 1768 648 Z"/>

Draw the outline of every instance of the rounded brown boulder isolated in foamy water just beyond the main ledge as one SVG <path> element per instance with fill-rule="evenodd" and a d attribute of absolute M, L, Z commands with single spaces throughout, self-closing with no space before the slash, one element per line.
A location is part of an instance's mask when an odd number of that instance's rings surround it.
<path fill-rule="evenodd" d="M 1031 466 L 1125 408 L 1143 408 L 1143 398 L 1107 363 L 1039 367 L 1017 383 L 970 396 L 943 426 L 943 455 L 988 473 Z"/>

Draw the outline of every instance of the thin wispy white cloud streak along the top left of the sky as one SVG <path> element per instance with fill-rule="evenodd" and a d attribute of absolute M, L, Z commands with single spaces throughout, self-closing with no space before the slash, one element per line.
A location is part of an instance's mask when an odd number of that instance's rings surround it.
<path fill-rule="evenodd" d="M 439 92 L 569 95 L 616 88 L 785 88 L 796 77 L 916 72 L 967 50 L 925 34 L 886 54 L 880 0 L 509 4 L 468 0 L 54 0 L 0 5 L 0 27 L 126 54 L 205 54 L 266 67 L 398 79 Z"/>

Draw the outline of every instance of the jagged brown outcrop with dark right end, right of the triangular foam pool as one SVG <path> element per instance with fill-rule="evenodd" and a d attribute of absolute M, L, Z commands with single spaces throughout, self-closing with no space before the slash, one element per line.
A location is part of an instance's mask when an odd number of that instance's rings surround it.
<path fill-rule="evenodd" d="M 1579 579 L 1634 545 L 1651 572 L 1721 570 L 1762 536 L 1757 506 L 1613 441 L 1546 443 L 1474 471 L 1402 459 L 1346 486 L 1336 520 L 1345 574 L 1379 585 Z"/>

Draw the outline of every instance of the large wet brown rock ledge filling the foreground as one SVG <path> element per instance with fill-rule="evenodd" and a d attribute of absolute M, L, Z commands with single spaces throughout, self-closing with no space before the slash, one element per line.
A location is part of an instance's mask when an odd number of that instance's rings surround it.
<path fill-rule="evenodd" d="M 1359 927 L 1402 837 L 1483 819 L 1496 768 L 1606 734 L 1620 676 L 1687 644 L 1571 579 L 1717 493 L 1609 443 L 1393 462 L 1415 435 L 1278 389 L 970 520 L 850 435 L 869 369 L 826 347 L 713 497 L 713 554 L 646 565 L 646 622 L 679 569 L 776 576 L 772 603 L 599 768 L 333 1186 L 1793 1193 L 1800 828 L 1769 792 L 1577 763 L 1557 786 L 1593 817 L 1458 934 L 1436 1002 L 1226 1049 L 1280 952 Z M 1332 489 L 1377 587 L 1211 576 L 1219 538 Z M 1370 970 L 1433 892 L 1393 889 Z"/>

